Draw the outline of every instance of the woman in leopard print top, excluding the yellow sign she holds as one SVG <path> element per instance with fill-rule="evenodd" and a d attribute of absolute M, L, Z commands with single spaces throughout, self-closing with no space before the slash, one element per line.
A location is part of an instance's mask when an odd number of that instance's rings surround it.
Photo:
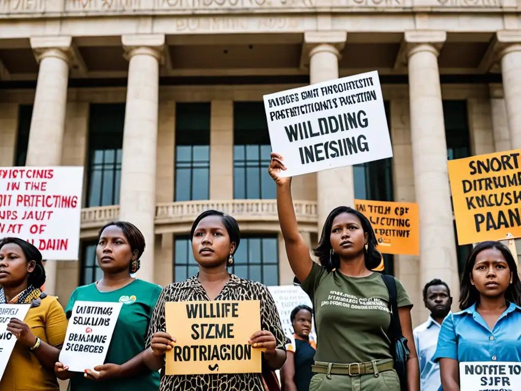
<path fill-rule="evenodd" d="M 165 352 L 175 346 L 175 336 L 165 332 L 165 302 L 172 301 L 260 300 L 262 330 L 249 342 L 253 348 L 266 349 L 262 361 L 268 372 L 280 369 L 286 361 L 286 336 L 268 288 L 227 271 L 239 246 L 237 221 L 222 212 L 206 211 L 195 219 L 190 239 L 199 273 L 163 289 L 152 314 L 142 359 L 148 368 L 162 369 L 160 391 L 265 391 L 260 373 L 164 375 Z"/>

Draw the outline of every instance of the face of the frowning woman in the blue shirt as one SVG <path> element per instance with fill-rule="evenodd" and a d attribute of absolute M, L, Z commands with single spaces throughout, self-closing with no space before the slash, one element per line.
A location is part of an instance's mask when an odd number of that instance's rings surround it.
<path fill-rule="evenodd" d="M 483 296 L 498 297 L 512 282 L 512 273 L 505 257 L 498 249 L 487 249 L 476 256 L 470 283 Z"/>

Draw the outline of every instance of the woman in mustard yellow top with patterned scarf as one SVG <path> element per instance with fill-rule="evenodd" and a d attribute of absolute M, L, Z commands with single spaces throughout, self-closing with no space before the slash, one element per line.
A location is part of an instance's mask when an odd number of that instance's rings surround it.
<path fill-rule="evenodd" d="M 7 331 L 17 338 L 0 391 L 58 390 L 54 364 L 65 340 L 67 319 L 45 283 L 42 254 L 18 238 L 0 240 L 0 304 L 31 304 L 25 319 L 11 319 Z"/>

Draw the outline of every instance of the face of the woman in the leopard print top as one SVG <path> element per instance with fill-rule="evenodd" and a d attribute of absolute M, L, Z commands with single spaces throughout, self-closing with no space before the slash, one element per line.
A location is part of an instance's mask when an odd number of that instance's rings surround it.
<path fill-rule="evenodd" d="M 235 243 L 230 242 L 230 235 L 220 216 L 203 218 L 194 231 L 192 252 L 195 261 L 203 267 L 217 267 L 228 262 Z"/>

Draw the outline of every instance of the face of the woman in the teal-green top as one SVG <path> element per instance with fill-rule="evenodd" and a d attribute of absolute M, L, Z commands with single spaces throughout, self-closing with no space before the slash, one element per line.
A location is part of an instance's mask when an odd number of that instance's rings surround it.
<path fill-rule="evenodd" d="M 132 253 L 130 243 L 121 228 L 110 225 L 103 230 L 96 247 L 96 258 L 104 273 L 129 270 L 130 262 L 137 255 L 138 250 Z"/>

